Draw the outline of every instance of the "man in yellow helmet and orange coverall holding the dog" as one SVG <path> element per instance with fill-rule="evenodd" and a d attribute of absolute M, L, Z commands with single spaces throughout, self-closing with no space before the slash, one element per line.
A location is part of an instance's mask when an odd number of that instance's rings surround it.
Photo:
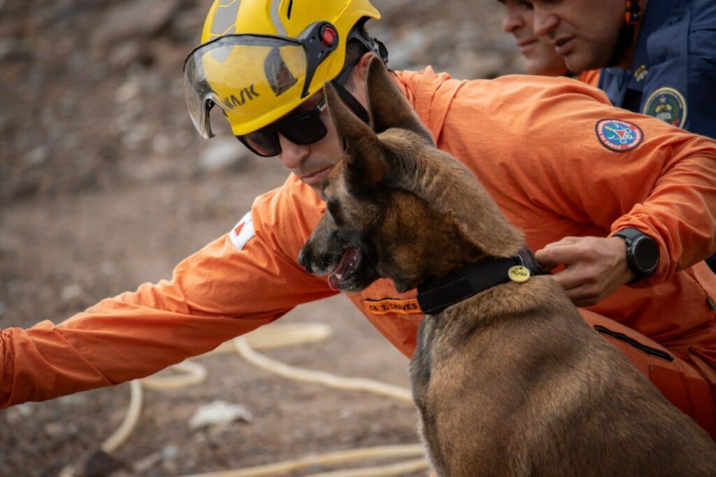
<path fill-rule="evenodd" d="M 365 115 L 368 62 L 387 56 L 364 31 L 370 18 L 367 0 L 214 2 L 185 63 L 193 122 L 211 137 L 209 110 L 220 107 L 244 145 L 292 174 L 171 281 L 59 325 L 4 331 L 0 407 L 149 375 L 337 293 L 297 257 L 341 157 L 321 85 L 334 82 Z M 395 81 L 543 266 L 568 265 L 553 279 L 584 318 L 716 437 L 716 276 L 703 263 L 716 247 L 716 143 L 561 77 L 458 81 L 428 67 Z M 349 299 L 412 355 L 415 290 L 379 280 Z"/>

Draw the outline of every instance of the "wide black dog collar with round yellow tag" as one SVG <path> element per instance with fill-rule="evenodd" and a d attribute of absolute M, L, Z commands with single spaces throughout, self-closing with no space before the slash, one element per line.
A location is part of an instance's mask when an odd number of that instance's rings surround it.
<path fill-rule="evenodd" d="M 511 280 L 526 281 L 531 275 L 543 273 L 534 254 L 529 249 L 522 249 L 517 256 L 509 259 L 482 259 L 448 275 L 423 282 L 417 286 L 417 302 L 423 313 L 438 314 L 451 304 L 462 302 L 480 291 Z"/>

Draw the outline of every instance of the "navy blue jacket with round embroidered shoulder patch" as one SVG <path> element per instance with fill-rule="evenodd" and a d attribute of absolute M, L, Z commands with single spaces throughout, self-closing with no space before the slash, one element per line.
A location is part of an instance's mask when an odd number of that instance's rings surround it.
<path fill-rule="evenodd" d="M 632 70 L 604 68 L 612 104 L 716 139 L 716 0 L 649 0 Z"/>

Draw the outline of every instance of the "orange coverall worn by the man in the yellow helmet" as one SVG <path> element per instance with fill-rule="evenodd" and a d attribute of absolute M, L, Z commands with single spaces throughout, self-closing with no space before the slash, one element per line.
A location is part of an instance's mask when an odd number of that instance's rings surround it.
<path fill-rule="evenodd" d="M 716 142 L 611 107 L 603 92 L 567 78 L 458 81 L 427 68 L 397 73 L 397 82 L 437 145 L 473 170 L 531 249 L 627 226 L 656 239 L 661 260 L 646 284 L 581 311 L 592 324 L 642 339 L 648 347 L 604 335 L 716 435 L 708 387 L 716 382 L 716 276 L 703 262 L 716 249 Z M 605 118 L 637 125 L 642 142 L 609 150 L 595 133 Z M 5 329 L 0 407 L 151 375 L 334 294 L 297 263 L 323 212 L 291 175 L 256 198 L 254 233 L 238 248 L 227 234 L 178 264 L 170 281 L 102 300 L 58 325 Z M 349 298 L 412 355 L 422 319 L 415 291 L 400 295 L 381 280 Z"/>

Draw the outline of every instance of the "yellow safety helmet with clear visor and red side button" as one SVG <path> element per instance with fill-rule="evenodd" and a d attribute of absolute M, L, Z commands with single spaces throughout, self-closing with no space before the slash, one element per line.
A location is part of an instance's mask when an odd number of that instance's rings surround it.
<path fill-rule="evenodd" d="M 213 136 L 213 105 L 237 136 L 291 112 L 342 72 L 349 37 L 379 50 L 354 30 L 369 18 L 380 18 L 369 0 L 214 0 L 184 63 L 196 129 Z"/>

